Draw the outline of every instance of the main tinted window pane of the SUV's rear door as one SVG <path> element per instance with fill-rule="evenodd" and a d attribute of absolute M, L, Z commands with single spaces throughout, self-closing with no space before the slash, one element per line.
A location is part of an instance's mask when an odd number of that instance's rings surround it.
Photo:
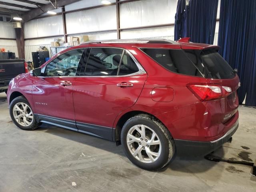
<path fill-rule="evenodd" d="M 92 48 L 86 64 L 86 76 L 116 76 L 124 50 Z"/>

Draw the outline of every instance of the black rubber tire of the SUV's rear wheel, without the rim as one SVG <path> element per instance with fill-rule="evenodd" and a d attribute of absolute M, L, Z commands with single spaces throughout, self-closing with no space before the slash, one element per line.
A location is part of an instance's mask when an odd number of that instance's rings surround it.
<path fill-rule="evenodd" d="M 156 161 L 151 163 L 141 162 L 140 160 L 136 159 L 130 152 L 126 142 L 126 137 L 130 128 L 140 124 L 148 126 L 154 130 L 162 145 L 160 156 Z M 126 121 L 121 132 L 121 143 L 124 153 L 128 159 L 136 166 L 145 170 L 155 171 L 164 168 L 166 165 L 168 165 L 170 160 L 174 158 L 175 154 L 175 144 L 170 132 L 159 120 L 147 114 L 139 114 Z"/>

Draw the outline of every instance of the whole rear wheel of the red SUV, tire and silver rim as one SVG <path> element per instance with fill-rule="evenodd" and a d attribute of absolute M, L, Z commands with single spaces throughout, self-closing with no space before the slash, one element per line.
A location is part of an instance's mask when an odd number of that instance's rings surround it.
<path fill-rule="evenodd" d="M 134 116 L 124 124 L 121 142 L 129 160 L 145 170 L 159 170 L 174 157 L 175 145 L 170 132 L 146 114 Z"/>

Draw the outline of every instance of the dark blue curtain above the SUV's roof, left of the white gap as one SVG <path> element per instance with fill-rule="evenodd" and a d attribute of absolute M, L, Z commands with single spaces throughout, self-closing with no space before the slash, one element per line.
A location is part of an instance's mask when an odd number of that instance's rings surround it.
<path fill-rule="evenodd" d="M 174 40 L 190 37 L 191 42 L 213 44 L 218 0 L 178 0 Z"/>

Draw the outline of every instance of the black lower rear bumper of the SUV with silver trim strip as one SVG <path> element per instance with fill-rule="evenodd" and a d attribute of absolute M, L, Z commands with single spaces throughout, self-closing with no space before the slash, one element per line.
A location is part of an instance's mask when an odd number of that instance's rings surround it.
<path fill-rule="evenodd" d="M 238 120 L 222 137 L 209 142 L 174 139 L 178 156 L 204 156 L 226 143 L 238 129 Z"/>

